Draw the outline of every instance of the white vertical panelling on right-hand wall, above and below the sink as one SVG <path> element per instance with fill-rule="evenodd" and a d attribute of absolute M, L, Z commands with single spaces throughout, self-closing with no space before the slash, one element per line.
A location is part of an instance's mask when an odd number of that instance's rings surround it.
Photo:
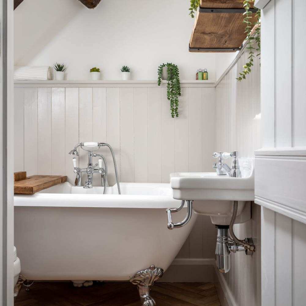
<path fill-rule="evenodd" d="M 237 150 L 240 157 L 254 157 L 254 151 L 261 147 L 259 58 L 254 60 L 252 73 L 246 80 L 236 80 L 247 58 L 247 52 L 241 54 L 216 87 L 217 151 Z M 234 231 L 240 239 L 253 237 L 256 252 L 252 256 L 246 256 L 244 252 L 231 254 L 230 271 L 218 276 L 226 283 L 225 296 L 227 299 L 231 297 L 233 306 L 258 306 L 261 303 L 260 207 L 253 204 L 252 219 L 236 224 Z"/>

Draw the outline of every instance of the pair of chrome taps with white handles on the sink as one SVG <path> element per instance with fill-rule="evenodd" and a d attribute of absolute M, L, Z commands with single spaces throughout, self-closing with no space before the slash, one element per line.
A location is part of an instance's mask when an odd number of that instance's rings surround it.
<path fill-rule="evenodd" d="M 219 158 L 218 163 L 214 162 L 212 166 L 216 169 L 217 175 L 228 174 L 230 177 L 241 177 L 241 171 L 238 162 L 238 151 L 233 151 L 231 153 L 215 152 L 212 156 L 214 158 Z M 227 159 L 229 157 L 233 157 L 231 167 L 223 162 L 223 159 Z"/>

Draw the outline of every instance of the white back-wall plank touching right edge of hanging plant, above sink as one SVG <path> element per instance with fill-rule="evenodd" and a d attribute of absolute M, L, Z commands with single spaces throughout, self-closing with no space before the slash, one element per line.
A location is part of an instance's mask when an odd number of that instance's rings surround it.
<path fill-rule="evenodd" d="M 188 91 L 188 88 L 181 88 L 179 116 L 175 118 L 175 172 L 188 172 L 189 169 Z"/>

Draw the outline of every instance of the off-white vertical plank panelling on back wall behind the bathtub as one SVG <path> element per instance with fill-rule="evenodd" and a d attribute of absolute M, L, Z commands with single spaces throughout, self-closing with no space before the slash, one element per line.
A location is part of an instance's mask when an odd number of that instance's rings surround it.
<path fill-rule="evenodd" d="M 115 84 L 114 84 L 115 86 Z M 79 142 L 109 143 L 121 182 L 169 183 L 171 172 L 212 171 L 215 87 L 182 87 L 179 118 L 171 118 L 166 88 L 15 88 L 15 166 L 28 175 L 67 175 Z M 111 155 L 109 182 L 115 184 Z M 80 167 L 87 154 L 80 151 Z M 93 182 L 100 179 L 93 176 Z M 178 258 L 214 258 L 215 227 L 199 216 Z"/>

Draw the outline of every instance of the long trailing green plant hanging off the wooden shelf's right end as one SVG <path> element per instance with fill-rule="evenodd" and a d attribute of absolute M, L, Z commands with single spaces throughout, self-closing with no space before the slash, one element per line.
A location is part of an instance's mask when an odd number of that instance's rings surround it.
<path fill-rule="evenodd" d="M 254 2 L 254 0 L 244 0 L 243 2 L 243 6 L 245 8 L 245 12 L 243 13 L 245 15 L 243 22 L 246 24 L 245 27 L 245 31 L 244 33 L 246 33 L 247 37 L 246 37 L 246 44 L 247 47 L 246 49 L 249 50 L 249 57 L 248 57 L 248 62 L 245 63 L 245 65 L 243 65 L 244 70 L 242 70 L 239 74 L 240 76 L 236 78 L 236 80 L 238 80 L 239 82 L 241 82 L 241 80 L 245 80 L 245 76 L 247 74 L 249 74 L 252 69 L 251 67 L 254 65 L 254 51 L 257 51 L 256 56 L 260 55 L 260 9 L 257 9 L 255 16 L 256 16 L 256 21 L 251 23 L 249 21 L 249 19 L 252 18 L 252 12 L 249 11 L 249 9 L 251 8 L 251 2 Z M 254 6 L 254 8 L 256 9 L 256 7 Z M 252 34 L 252 29 L 253 26 L 256 26 L 254 30 L 254 34 Z M 253 44 L 257 44 L 257 48 L 253 47 Z"/>

